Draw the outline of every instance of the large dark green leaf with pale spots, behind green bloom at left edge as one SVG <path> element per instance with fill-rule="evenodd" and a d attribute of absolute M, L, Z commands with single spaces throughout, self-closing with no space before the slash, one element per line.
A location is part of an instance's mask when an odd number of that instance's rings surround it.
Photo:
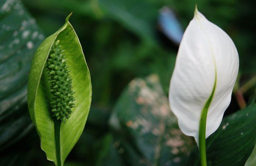
<path fill-rule="evenodd" d="M 30 64 L 44 35 L 19 0 L 0 1 L 0 151 L 33 128 L 27 109 Z"/>

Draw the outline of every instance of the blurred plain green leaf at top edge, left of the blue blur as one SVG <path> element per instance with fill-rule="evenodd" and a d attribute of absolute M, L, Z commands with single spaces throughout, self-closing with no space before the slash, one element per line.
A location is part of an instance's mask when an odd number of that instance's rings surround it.
<path fill-rule="evenodd" d="M 157 19 L 157 7 L 154 3 L 145 0 L 120 1 L 99 0 L 103 13 L 120 22 L 142 39 L 154 42 L 154 23 Z"/>

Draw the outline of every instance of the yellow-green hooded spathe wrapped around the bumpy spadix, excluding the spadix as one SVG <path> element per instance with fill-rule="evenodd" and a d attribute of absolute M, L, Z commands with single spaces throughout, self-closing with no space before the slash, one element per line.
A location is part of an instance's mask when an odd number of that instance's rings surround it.
<path fill-rule="evenodd" d="M 28 83 L 28 107 L 41 140 L 41 148 L 47 159 L 56 166 L 63 166 L 84 129 L 91 104 L 91 79 L 84 54 L 74 28 L 66 18 L 65 24 L 56 33 L 47 37 L 38 47 L 32 61 Z M 55 41 L 64 50 L 66 64 L 71 70 L 75 108 L 66 123 L 52 117 L 50 107 L 48 74 L 45 64 Z M 60 89 L 60 88 L 59 88 Z"/>

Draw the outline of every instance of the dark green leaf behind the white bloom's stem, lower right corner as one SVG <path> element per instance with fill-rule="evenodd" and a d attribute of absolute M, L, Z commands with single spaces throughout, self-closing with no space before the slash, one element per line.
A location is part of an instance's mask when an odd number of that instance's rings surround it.
<path fill-rule="evenodd" d="M 206 139 L 208 166 L 244 166 L 256 141 L 256 104 L 224 118 L 220 127 Z M 188 165 L 200 165 L 195 147 Z"/>

